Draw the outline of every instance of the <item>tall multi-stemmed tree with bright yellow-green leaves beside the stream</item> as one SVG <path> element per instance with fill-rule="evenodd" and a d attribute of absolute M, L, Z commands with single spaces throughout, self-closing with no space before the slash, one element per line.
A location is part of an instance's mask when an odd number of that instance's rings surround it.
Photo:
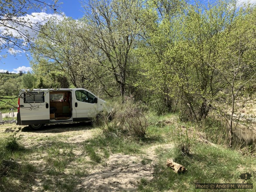
<path fill-rule="evenodd" d="M 182 110 L 190 119 L 201 122 L 212 109 L 215 95 L 223 87 L 215 67 L 220 65 L 223 43 L 228 39 L 233 19 L 235 1 L 217 1 L 205 5 L 190 5 L 181 17 L 179 49 L 183 62 L 181 73 Z M 177 67 L 178 69 L 179 67 Z"/>

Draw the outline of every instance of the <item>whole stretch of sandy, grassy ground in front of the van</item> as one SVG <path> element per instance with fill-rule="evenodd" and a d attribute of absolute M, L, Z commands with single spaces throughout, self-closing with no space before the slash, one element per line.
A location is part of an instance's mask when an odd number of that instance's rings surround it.
<path fill-rule="evenodd" d="M 189 155 L 177 148 L 178 128 L 193 132 Z M 195 183 L 242 183 L 242 173 L 256 185 L 252 155 L 205 143 L 176 114 L 151 118 L 143 139 L 108 137 L 90 123 L 0 131 L 0 191 L 198 191 Z M 187 172 L 172 171 L 167 158 Z"/>

